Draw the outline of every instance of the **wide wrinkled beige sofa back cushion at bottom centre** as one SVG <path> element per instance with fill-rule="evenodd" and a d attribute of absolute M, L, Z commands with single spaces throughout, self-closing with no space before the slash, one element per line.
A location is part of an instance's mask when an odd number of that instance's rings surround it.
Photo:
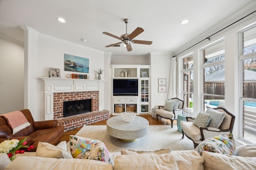
<path fill-rule="evenodd" d="M 204 159 L 194 150 L 169 154 L 134 154 L 117 156 L 115 170 L 203 170 Z"/>

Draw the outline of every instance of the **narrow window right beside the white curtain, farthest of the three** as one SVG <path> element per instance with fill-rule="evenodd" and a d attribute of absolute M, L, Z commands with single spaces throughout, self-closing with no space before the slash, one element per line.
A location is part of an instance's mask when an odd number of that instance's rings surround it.
<path fill-rule="evenodd" d="M 193 55 L 182 58 L 182 97 L 184 112 L 193 115 Z"/>

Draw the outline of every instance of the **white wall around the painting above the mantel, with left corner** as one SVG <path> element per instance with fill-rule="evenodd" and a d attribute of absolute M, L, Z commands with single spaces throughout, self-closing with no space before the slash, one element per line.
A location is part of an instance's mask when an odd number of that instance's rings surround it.
<path fill-rule="evenodd" d="M 25 107 L 36 121 L 44 120 L 44 84 L 39 77 L 49 77 L 49 68 L 60 68 L 61 78 L 79 72 L 64 71 L 64 54 L 89 59 L 90 79 L 97 79 L 95 70 L 104 69 L 104 52 L 41 34 L 30 27 L 25 31 Z M 102 74 L 104 80 L 104 72 Z"/>

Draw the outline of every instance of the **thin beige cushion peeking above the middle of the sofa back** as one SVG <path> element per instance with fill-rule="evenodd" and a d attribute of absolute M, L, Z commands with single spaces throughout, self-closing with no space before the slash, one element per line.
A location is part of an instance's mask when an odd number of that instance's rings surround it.
<path fill-rule="evenodd" d="M 170 148 L 159 149 L 159 150 L 132 150 L 132 149 L 121 149 L 121 154 L 165 154 L 170 153 Z"/>

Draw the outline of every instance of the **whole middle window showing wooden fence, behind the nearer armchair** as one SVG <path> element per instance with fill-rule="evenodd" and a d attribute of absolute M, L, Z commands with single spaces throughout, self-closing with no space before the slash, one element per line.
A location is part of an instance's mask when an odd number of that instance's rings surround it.
<path fill-rule="evenodd" d="M 225 103 L 224 39 L 202 49 L 202 110 L 224 107 Z"/>

